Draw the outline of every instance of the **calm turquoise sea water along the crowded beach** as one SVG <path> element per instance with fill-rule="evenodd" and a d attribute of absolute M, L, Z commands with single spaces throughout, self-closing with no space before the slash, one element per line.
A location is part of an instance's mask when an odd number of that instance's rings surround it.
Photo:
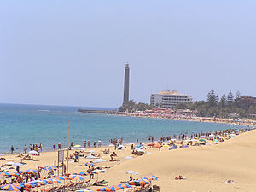
<path fill-rule="evenodd" d="M 51 150 L 53 143 L 67 146 L 67 125 L 70 119 L 70 141 L 84 145 L 84 140 L 101 140 L 108 145 L 111 138 L 124 138 L 124 143 L 147 142 L 148 136 L 158 138 L 178 133 L 218 131 L 236 128 L 234 125 L 119 117 L 113 115 L 78 113 L 79 107 L 0 104 L 0 152 L 9 153 L 14 145 L 20 152 L 24 145 L 43 143 Z M 110 108 L 87 108 L 110 109 Z"/>

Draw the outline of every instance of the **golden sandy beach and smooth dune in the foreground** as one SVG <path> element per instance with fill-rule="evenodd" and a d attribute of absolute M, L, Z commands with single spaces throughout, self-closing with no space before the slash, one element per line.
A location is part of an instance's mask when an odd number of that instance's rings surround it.
<path fill-rule="evenodd" d="M 97 166 L 110 166 L 105 173 L 99 174 L 99 179 L 105 179 L 109 185 L 119 184 L 121 181 L 129 180 L 126 171 L 138 172 L 137 178 L 149 174 L 159 176 L 155 184 L 160 185 L 161 191 L 242 191 L 253 192 L 256 189 L 256 131 L 248 131 L 233 137 L 223 143 L 211 146 L 179 148 L 168 150 L 162 148 L 147 148 L 148 154 L 135 157 L 131 160 L 125 159 L 131 155 L 131 146 L 124 150 L 116 150 L 118 162 L 109 162 L 108 154 L 103 154 L 103 148 L 93 148 L 96 154 L 101 154 L 106 162 L 98 163 Z M 106 148 L 106 147 L 104 147 Z M 110 153 L 113 147 L 108 147 Z M 89 150 L 89 149 L 88 149 Z M 87 151 L 88 151 L 87 150 Z M 74 151 L 71 151 L 73 153 Z M 88 155 L 88 154 L 84 154 Z M 17 155 L 1 156 L 7 160 L 1 160 L 0 165 L 7 161 L 20 162 Z M 57 152 L 44 152 L 40 156 L 33 156 L 35 161 L 26 161 L 20 170 L 37 168 L 38 166 L 54 166 L 57 160 Z M 69 163 L 69 173 L 85 172 L 88 167 L 84 163 L 90 160 L 79 158 L 78 163 Z M 81 165 L 81 166 L 79 166 Z M 182 175 L 185 180 L 175 180 Z M 136 177 L 135 177 L 136 178 Z M 224 183 L 232 179 L 235 183 Z M 101 187 L 90 187 L 92 191 Z"/>

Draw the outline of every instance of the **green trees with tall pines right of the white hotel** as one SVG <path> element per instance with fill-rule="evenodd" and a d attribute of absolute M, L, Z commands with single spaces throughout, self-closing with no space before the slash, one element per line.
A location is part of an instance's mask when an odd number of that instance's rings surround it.
<path fill-rule="evenodd" d="M 239 102 L 241 94 L 239 90 L 234 98 L 230 91 L 227 96 L 225 94 L 219 99 L 214 90 L 211 90 L 207 95 L 207 102 L 191 102 L 178 103 L 177 109 L 195 110 L 198 116 L 201 117 L 219 117 L 219 118 L 253 118 L 252 114 L 256 114 L 256 108 L 252 105 L 244 105 Z M 255 116 L 254 116 L 255 118 Z"/>

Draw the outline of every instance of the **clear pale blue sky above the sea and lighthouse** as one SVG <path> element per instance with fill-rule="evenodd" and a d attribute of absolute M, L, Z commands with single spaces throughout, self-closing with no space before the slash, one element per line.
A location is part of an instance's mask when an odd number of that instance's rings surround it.
<path fill-rule="evenodd" d="M 255 1 L 0 2 L 0 103 L 118 108 L 177 90 L 256 96 Z"/>

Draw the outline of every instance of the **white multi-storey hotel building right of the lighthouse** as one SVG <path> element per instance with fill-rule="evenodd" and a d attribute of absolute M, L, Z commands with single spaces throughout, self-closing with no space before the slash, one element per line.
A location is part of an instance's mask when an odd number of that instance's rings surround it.
<path fill-rule="evenodd" d="M 192 102 L 192 98 L 175 90 L 161 91 L 150 96 L 150 104 L 161 105 L 163 108 L 175 108 L 179 102 Z"/>

